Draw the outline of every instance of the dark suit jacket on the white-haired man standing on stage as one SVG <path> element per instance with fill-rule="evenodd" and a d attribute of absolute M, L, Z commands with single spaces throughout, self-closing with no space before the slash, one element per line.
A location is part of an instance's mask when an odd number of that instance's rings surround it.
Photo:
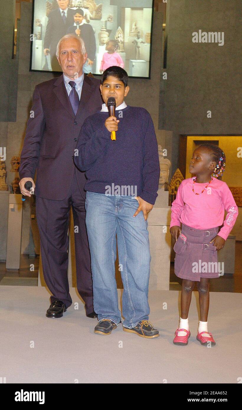
<path fill-rule="evenodd" d="M 37 169 L 36 195 L 53 200 L 66 198 L 75 169 L 73 155 L 80 128 L 87 116 L 102 108 L 99 86 L 100 80 L 84 75 L 76 116 L 63 75 L 35 87 L 31 109 L 34 118 L 27 122 L 19 176 L 34 179 Z M 76 175 L 84 197 L 85 175 L 77 168 Z"/>

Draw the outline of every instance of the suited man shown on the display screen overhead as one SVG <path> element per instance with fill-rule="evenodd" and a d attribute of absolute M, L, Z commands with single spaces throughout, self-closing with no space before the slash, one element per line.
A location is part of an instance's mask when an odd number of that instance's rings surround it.
<path fill-rule="evenodd" d="M 55 55 L 58 41 L 66 34 L 66 30 L 73 24 L 75 10 L 69 9 L 70 0 L 56 0 L 58 8 L 50 11 L 44 38 L 44 53 L 50 53 L 51 67 L 53 71 L 60 71 Z"/>

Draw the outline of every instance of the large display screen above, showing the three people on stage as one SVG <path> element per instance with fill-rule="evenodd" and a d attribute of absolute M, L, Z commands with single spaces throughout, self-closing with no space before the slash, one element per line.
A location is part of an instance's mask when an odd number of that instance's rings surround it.
<path fill-rule="evenodd" d="M 61 71 L 57 43 L 73 33 L 85 43 L 84 73 L 116 65 L 149 78 L 152 18 L 153 0 L 34 0 L 30 70 Z"/>

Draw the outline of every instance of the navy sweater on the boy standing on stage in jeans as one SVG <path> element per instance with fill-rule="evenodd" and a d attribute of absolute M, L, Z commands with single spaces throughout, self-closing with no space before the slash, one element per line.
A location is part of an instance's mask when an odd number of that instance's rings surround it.
<path fill-rule="evenodd" d="M 119 112 L 123 118 L 119 117 Z M 74 156 L 75 165 L 86 171 L 86 191 L 105 194 L 107 185 L 137 186 L 137 196 L 155 203 L 160 178 L 158 145 L 152 118 L 142 107 L 127 105 L 116 110 L 116 140 L 105 127 L 109 114 L 98 111 L 82 125 Z"/>

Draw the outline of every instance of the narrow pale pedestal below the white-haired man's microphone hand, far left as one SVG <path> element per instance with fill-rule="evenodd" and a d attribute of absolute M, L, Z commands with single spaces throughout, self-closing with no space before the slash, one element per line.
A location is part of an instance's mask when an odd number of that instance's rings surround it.
<path fill-rule="evenodd" d="M 9 194 L 6 269 L 20 267 L 22 214 L 22 194 Z"/>

